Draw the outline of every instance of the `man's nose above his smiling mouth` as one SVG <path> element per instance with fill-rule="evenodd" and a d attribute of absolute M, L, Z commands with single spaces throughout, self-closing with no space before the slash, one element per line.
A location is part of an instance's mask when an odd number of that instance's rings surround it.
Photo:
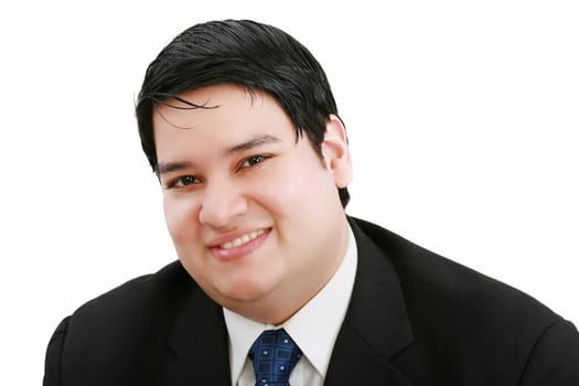
<path fill-rule="evenodd" d="M 224 228 L 247 212 L 247 200 L 233 181 L 212 181 L 205 185 L 199 212 L 202 225 Z"/>

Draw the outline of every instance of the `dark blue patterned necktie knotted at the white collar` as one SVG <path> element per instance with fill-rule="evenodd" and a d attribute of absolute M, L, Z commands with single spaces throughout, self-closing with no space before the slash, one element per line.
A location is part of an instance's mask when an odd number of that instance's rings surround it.
<path fill-rule="evenodd" d="M 301 350 L 286 330 L 267 330 L 255 341 L 249 357 L 254 362 L 256 386 L 289 386 Z"/>

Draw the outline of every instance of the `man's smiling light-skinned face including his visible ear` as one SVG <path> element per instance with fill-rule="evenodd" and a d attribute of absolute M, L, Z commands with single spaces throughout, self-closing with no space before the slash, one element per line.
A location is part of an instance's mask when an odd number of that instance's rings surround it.
<path fill-rule="evenodd" d="M 268 95 L 219 85 L 180 97 L 214 108 L 167 100 L 153 114 L 179 258 L 218 303 L 282 322 L 325 285 L 347 245 L 336 190 L 352 173 L 343 127 L 329 120 L 321 160 Z"/>

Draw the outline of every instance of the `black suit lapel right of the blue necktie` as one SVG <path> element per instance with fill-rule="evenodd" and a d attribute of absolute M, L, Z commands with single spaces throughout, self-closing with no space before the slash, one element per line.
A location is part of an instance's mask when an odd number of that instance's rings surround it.
<path fill-rule="evenodd" d="M 390 358 L 414 340 L 398 276 L 389 259 L 354 221 L 358 267 L 325 385 L 412 385 Z"/>

